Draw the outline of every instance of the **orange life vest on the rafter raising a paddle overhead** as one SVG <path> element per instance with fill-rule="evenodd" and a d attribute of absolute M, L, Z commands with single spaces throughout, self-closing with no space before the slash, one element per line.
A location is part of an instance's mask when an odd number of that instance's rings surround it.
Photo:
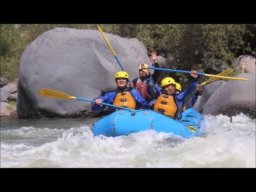
<path fill-rule="evenodd" d="M 154 111 L 161 112 L 171 118 L 174 117 L 178 107 L 171 95 L 161 94 L 154 105 Z"/>

